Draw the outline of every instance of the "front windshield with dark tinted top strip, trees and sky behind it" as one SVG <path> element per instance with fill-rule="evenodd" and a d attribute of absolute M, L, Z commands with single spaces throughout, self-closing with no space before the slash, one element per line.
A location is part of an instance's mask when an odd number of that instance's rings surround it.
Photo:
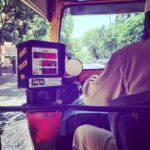
<path fill-rule="evenodd" d="M 137 9 L 141 4 L 137 4 L 136 9 L 117 6 L 95 5 L 93 10 L 93 5 L 66 8 L 60 42 L 66 44 L 68 55 L 79 58 L 84 64 L 106 64 L 116 50 L 142 40 L 144 13 Z"/>

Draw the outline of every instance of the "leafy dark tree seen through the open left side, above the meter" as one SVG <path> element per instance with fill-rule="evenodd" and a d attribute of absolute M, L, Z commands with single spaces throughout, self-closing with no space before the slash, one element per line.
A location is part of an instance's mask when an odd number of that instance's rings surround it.
<path fill-rule="evenodd" d="M 42 39 L 49 24 L 18 0 L 0 1 L 0 44 Z"/>

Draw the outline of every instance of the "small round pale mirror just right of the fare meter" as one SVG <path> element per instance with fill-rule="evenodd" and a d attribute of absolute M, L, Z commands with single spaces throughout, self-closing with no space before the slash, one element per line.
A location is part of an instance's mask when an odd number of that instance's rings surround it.
<path fill-rule="evenodd" d="M 78 76 L 82 72 L 82 63 L 76 58 L 67 60 L 65 64 L 65 70 L 68 75 Z"/>

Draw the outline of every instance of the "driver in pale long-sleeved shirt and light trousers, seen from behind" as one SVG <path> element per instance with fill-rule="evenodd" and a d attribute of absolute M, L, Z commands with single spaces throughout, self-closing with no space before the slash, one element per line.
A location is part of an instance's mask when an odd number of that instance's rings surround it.
<path fill-rule="evenodd" d="M 86 105 L 108 106 L 110 100 L 150 90 L 150 0 L 145 3 L 144 40 L 115 52 L 100 76 L 83 86 Z M 75 131 L 74 150 L 116 150 L 110 131 L 82 125 Z"/>

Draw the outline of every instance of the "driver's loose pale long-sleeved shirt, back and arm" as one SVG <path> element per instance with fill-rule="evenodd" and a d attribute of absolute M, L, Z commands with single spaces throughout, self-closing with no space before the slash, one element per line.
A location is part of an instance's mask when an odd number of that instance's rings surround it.
<path fill-rule="evenodd" d="M 150 40 L 115 52 L 104 72 L 83 85 L 87 105 L 109 105 L 118 97 L 150 90 Z"/>

